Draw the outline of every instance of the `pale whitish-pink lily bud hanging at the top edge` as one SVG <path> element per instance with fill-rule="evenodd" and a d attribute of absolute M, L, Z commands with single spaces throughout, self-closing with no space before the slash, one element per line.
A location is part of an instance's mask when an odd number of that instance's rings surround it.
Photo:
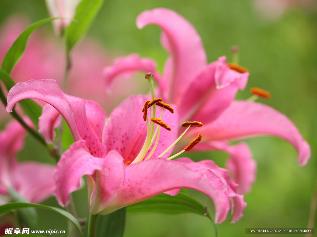
<path fill-rule="evenodd" d="M 62 31 L 74 18 L 78 3 L 81 0 L 46 0 L 46 5 L 51 17 L 64 17 L 67 19 L 57 19 L 53 21 L 57 35 L 61 36 Z"/>

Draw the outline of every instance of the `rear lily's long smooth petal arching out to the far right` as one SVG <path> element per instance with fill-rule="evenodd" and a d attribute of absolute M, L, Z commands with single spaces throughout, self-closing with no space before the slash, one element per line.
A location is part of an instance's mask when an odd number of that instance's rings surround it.
<path fill-rule="evenodd" d="M 215 121 L 204 125 L 200 130 L 193 128 L 186 135 L 194 137 L 198 131 L 203 134 L 205 141 L 241 139 L 256 135 L 281 137 L 294 146 L 300 165 L 305 165 L 311 154 L 308 143 L 285 115 L 256 102 L 234 101 Z"/>

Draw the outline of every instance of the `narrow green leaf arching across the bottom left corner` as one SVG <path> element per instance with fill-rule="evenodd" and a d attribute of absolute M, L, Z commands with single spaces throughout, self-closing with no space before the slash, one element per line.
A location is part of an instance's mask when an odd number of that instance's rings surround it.
<path fill-rule="evenodd" d="M 81 226 L 80 226 L 79 222 L 77 221 L 77 219 L 73 215 L 71 215 L 69 212 L 62 210 L 60 208 L 57 208 L 57 207 L 50 207 L 50 206 L 45 206 L 42 204 L 34 204 L 34 203 L 8 203 L 8 204 L 4 204 L 4 205 L 0 206 L 0 215 L 7 213 L 7 212 L 10 212 L 12 210 L 19 210 L 19 209 L 28 208 L 28 207 L 36 207 L 36 208 L 51 210 L 51 211 L 55 211 L 55 212 L 61 214 L 62 216 L 66 217 L 68 220 L 73 222 L 73 224 L 77 228 L 80 236 L 82 237 Z"/>

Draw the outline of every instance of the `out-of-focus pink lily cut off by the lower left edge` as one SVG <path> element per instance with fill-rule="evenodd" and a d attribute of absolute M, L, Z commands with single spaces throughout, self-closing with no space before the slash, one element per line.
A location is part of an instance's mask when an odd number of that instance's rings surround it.
<path fill-rule="evenodd" d="M 26 122 L 32 126 L 29 120 Z M 26 134 L 17 121 L 11 121 L 0 132 L 0 205 L 10 201 L 5 186 L 14 188 L 32 203 L 41 203 L 52 195 L 54 166 L 34 161 L 16 161 L 15 155 L 23 148 Z"/>

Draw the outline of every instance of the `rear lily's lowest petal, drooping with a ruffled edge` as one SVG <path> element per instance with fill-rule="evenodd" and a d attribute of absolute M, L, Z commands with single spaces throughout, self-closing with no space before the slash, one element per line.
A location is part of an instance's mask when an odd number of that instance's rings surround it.
<path fill-rule="evenodd" d="M 234 146 L 226 142 L 201 142 L 193 150 L 220 150 L 227 152 L 230 156 L 226 162 L 226 167 L 230 169 L 233 181 L 237 183 L 238 194 L 245 194 L 250 191 L 256 180 L 256 161 L 252 157 L 248 144 L 240 142 Z"/>

